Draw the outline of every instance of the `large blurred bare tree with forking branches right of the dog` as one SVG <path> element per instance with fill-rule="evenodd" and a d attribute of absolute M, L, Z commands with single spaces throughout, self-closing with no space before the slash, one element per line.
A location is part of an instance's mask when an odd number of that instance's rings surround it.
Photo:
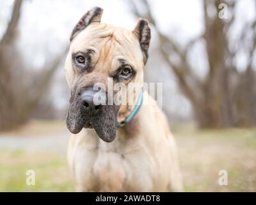
<path fill-rule="evenodd" d="M 243 44 L 243 40 L 248 41 L 246 32 L 250 30 L 253 33 L 251 44 L 246 48 L 250 55 L 248 66 L 244 72 L 239 72 L 234 63 L 239 47 L 232 48 L 228 40 L 228 32 L 235 20 L 234 8 L 237 1 L 224 1 L 232 15 L 228 20 L 219 18 L 218 12 L 215 17 L 207 14 L 209 6 L 218 10 L 220 3 L 223 1 L 203 1 L 205 32 L 185 47 L 175 42 L 171 35 L 160 31 L 148 1 L 132 1 L 130 6 L 135 15 L 148 19 L 157 31 L 159 51 L 178 79 L 180 90 L 191 102 L 201 127 L 252 126 L 256 124 L 255 70 L 252 64 L 255 56 L 256 19 L 246 25 L 241 35 L 239 43 Z M 143 8 L 143 11 L 139 8 Z M 198 78 L 188 59 L 192 47 L 199 40 L 205 42 L 209 63 L 205 79 Z M 178 62 L 171 58 L 172 54 L 178 56 Z"/>

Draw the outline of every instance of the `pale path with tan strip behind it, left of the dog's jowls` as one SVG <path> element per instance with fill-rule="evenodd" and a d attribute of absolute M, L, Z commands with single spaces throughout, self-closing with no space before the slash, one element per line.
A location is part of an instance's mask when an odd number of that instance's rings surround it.
<path fill-rule="evenodd" d="M 65 152 L 68 140 L 63 123 L 31 122 L 19 131 L 0 133 L 0 149 Z"/>

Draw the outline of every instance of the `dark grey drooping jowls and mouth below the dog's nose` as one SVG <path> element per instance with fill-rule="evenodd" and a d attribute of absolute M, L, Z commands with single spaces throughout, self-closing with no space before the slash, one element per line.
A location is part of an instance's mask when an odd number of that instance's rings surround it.
<path fill-rule="evenodd" d="M 93 128 L 99 138 L 105 142 L 115 139 L 117 129 L 117 108 L 113 105 L 102 106 L 90 115 L 80 103 L 74 101 L 69 105 L 67 128 L 71 133 L 78 134 L 83 128 Z"/>

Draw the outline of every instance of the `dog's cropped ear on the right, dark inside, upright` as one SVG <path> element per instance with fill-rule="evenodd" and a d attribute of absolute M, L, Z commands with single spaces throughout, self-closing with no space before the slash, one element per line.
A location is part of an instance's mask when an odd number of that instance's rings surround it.
<path fill-rule="evenodd" d="M 150 28 L 148 26 L 148 20 L 140 18 L 132 32 L 139 38 L 141 51 L 143 53 L 144 64 L 146 64 L 148 60 L 148 48 L 149 48 L 149 42 L 151 38 Z"/>

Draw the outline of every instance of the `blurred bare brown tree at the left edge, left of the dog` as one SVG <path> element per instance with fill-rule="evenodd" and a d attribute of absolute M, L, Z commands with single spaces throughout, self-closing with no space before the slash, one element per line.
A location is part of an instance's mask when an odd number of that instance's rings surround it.
<path fill-rule="evenodd" d="M 16 0 L 12 17 L 0 40 L 0 131 L 21 126 L 30 118 L 67 53 L 65 49 L 64 53 L 48 60 L 39 72 L 26 67 L 15 44 L 21 8 L 22 0 Z"/>

